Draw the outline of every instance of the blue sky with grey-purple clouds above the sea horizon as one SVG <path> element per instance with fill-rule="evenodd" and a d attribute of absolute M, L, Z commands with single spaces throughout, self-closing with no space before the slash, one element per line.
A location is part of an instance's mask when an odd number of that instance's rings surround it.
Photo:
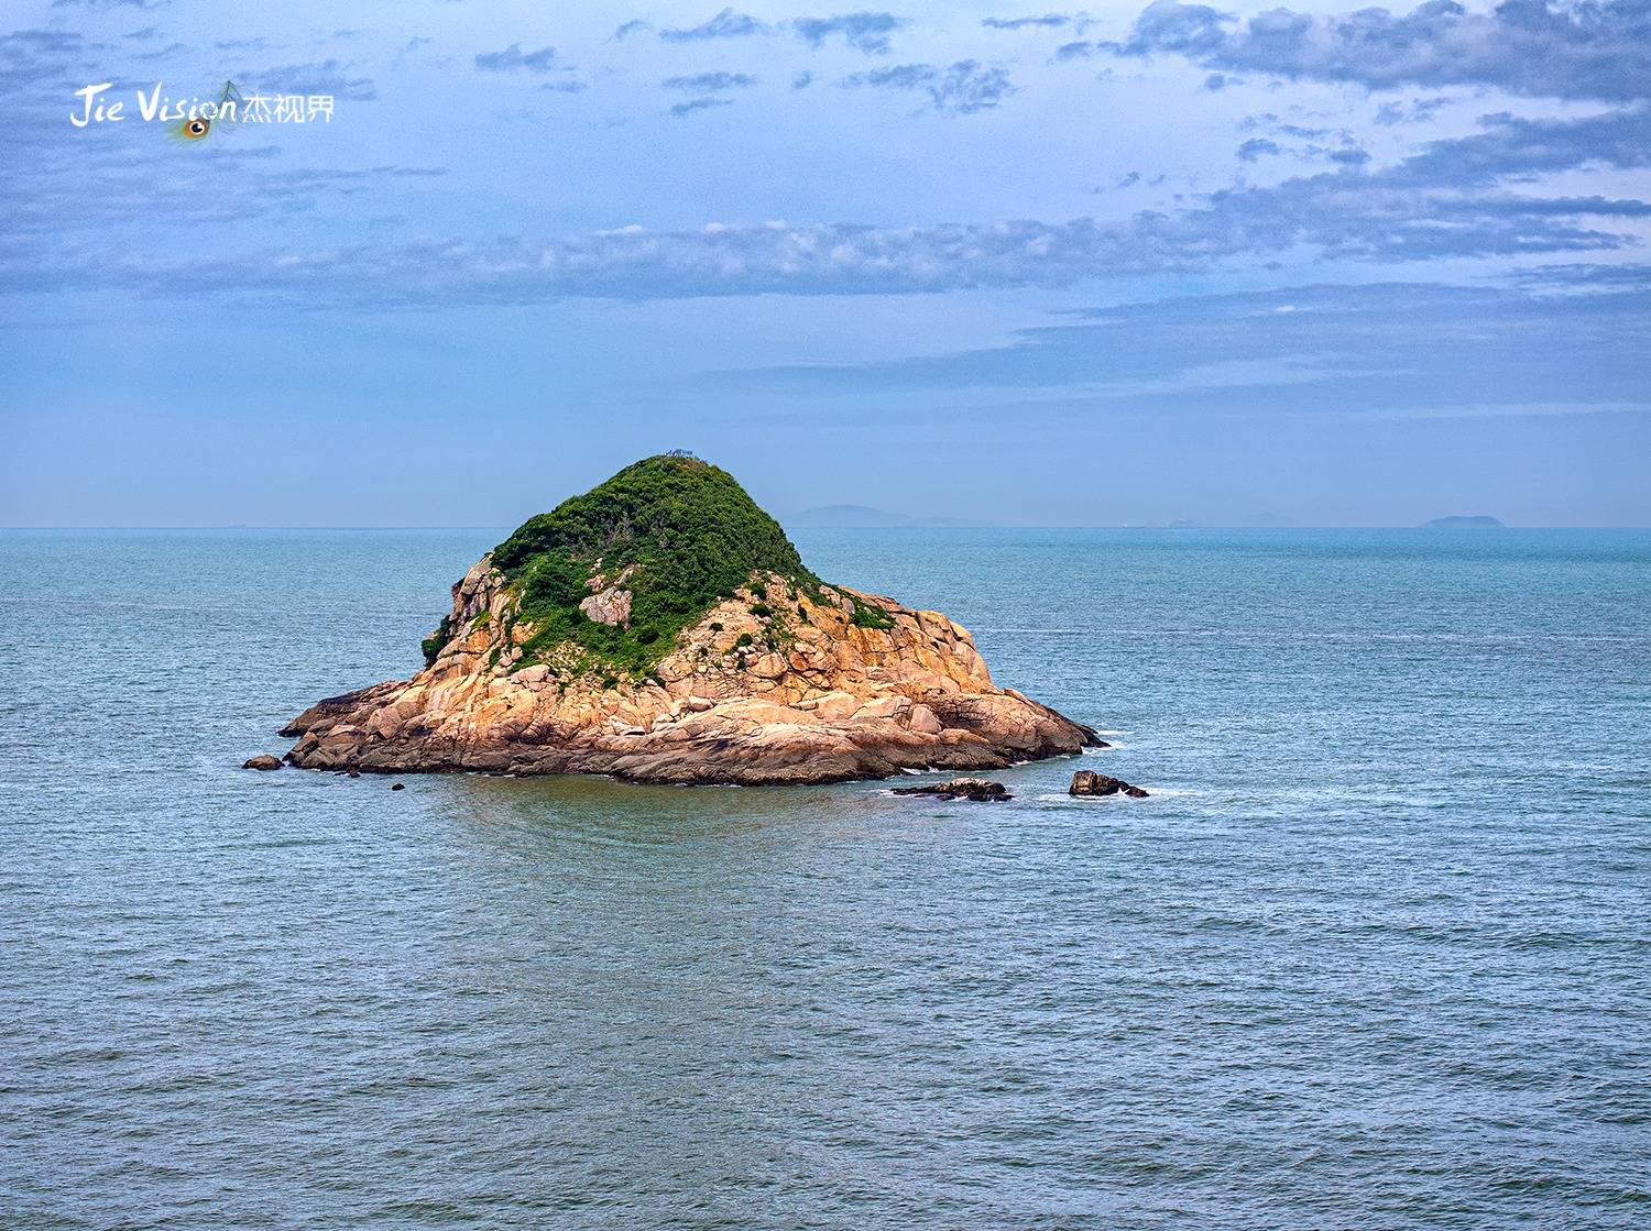
<path fill-rule="evenodd" d="M 0 8 L 0 525 L 1651 525 L 1651 0 L 226 10 Z"/>

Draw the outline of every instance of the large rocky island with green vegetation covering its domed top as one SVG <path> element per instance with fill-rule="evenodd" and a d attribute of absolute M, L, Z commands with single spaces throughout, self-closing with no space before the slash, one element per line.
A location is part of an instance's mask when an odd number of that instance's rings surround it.
<path fill-rule="evenodd" d="M 332 771 L 763 784 L 997 769 L 1090 728 L 999 688 L 934 611 L 821 581 L 735 479 L 649 457 L 523 523 L 452 587 L 424 668 L 315 703 Z"/>

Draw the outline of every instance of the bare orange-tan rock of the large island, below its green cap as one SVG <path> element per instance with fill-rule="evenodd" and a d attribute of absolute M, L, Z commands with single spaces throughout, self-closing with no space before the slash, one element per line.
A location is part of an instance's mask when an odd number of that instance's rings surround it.
<path fill-rule="evenodd" d="M 580 607 L 619 625 L 596 632 L 627 634 L 631 589 L 649 566 L 606 569 L 589 561 Z M 999 769 L 1101 743 L 999 688 L 972 637 L 943 614 L 812 574 L 753 569 L 660 639 L 646 673 L 606 670 L 571 640 L 546 650 L 520 576 L 484 556 L 452 587 L 429 665 L 305 710 L 282 731 L 297 739 L 287 761 L 766 784 Z"/>

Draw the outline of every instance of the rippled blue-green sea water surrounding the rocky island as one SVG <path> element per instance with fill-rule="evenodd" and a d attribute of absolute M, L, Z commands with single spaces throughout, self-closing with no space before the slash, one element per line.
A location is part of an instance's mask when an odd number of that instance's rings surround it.
<path fill-rule="evenodd" d="M 502 536 L 0 533 L 0 1226 L 1651 1223 L 1651 533 L 796 535 L 1002 805 L 236 769 Z"/>

